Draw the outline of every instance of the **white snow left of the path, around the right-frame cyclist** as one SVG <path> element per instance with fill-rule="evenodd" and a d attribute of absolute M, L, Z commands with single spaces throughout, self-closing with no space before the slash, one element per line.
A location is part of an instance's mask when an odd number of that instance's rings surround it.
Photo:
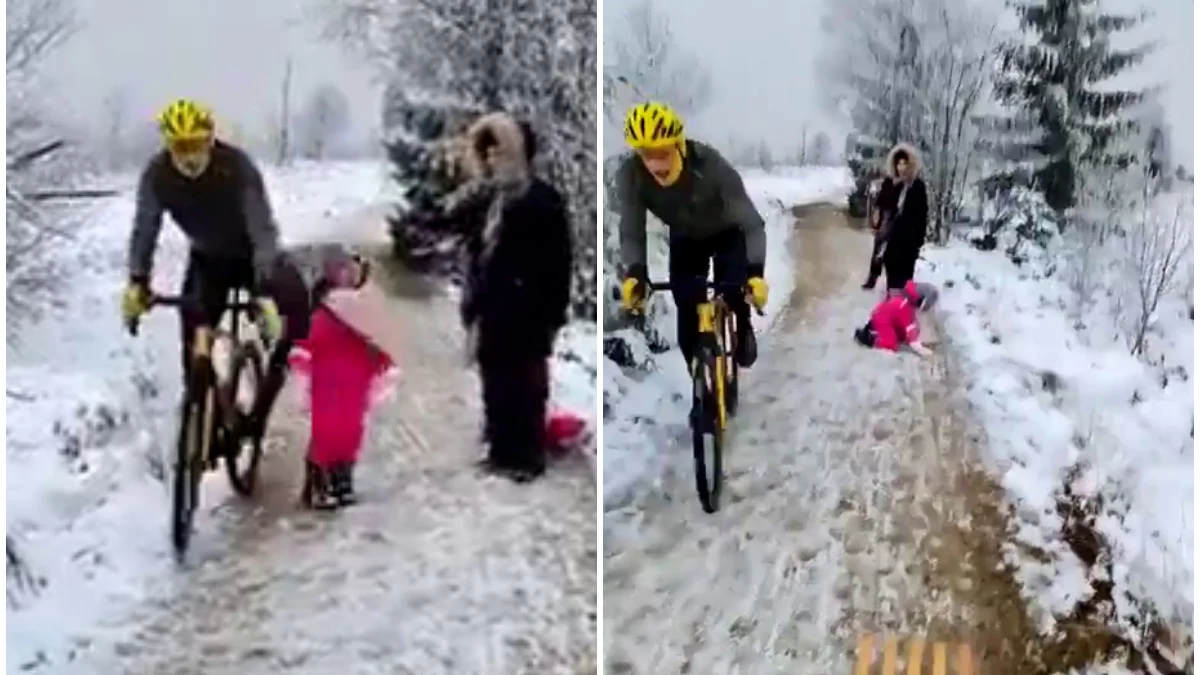
<path fill-rule="evenodd" d="M 767 316 L 755 317 L 761 331 L 769 328 L 794 285 L 791 251 L 794 219 L 790 209 L 816 202 L 844 204 L 853 180 L 845 168 L 823 167 L 742 169 L 742 177 L 767 219 L 770 299 Z M 665 239 L 652 234 L 649 258 L 650 276 L 666 277 Z M 654 328 L 674 345 L 674 306 L 665 297 L 655 297 L 653 303 Z M 653 354 L 631 329 L 618 330 L 607 339 L 622 339 L 638 364 L 624 371 L 608 360 L 604 369 L 604 500 L 605 509 L 613 509 L 629 503 L 647 485 L 660 484 L 668 453 L 686 435 L 690 383 L 677 348 Z"/>

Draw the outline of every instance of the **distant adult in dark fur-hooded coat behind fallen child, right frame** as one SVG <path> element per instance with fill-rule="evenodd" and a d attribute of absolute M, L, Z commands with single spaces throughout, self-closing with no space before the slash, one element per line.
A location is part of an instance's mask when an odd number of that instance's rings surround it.
<path fill-rule="evenodd" d="M 929 192 L 920 172 L 920 154 L 907 143 L 888 153 L 888 178 L 880 187 L 877 208 L 882 226 L 876 258 L 883 261 L 888 289 L 899 291 L 912 280 L 925 245 Z M 874 286 L 874 283 L 871 285 Z"/>

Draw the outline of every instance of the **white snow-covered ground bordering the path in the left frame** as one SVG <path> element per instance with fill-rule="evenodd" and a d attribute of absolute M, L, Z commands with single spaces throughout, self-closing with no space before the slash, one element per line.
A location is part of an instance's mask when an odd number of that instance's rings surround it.
<path fill-rule="evenodd" d="M 132 186 L 133 177 L 113 180 Z M 266 181 L 286 245 L 385 241 L 383 165 L 299 163 L 266 169 Z M 10 573 L 8 671 L 64 671 L 76 652 L 115 641 L 127 627 L 114 617 L 176 572 L 161 480 L 179 390 L 178 321 L 154 312 L 138 338 L 120 325 L 131 216 L 125 196 L 98 208 L 65 253 L 76 271 L 61 300 L 16 344 L 10 335 L 6 522 L 35 587 Z M 178 285 L 185 246 L 166 225 L 157 288 Z M 556 401 L 592 418 L 594 327 L 569 327 L 558 353 Z M 220 498 L 209 492 L 228 492 L 222 480 L 204 486 L 206 503 Z M 211 525 L 198 525 L 203 538 Z"/>

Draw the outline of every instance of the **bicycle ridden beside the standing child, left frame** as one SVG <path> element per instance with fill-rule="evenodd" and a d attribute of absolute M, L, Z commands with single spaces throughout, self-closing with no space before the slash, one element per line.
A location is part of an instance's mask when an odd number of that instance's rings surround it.
<path fill-rule="evenodd" d="M 226 473 L 234 491 L 251 496 L 258 484 L 258 465 L 263 455 L 260 436 L 247 436 L 244 420 L 253 410 L 258 386 L 265 372 L 265 353 L 271 345 L 263 338 L 242 335 L 242 315 L 258 318 L 258 305 L 240 298 L 242 291 L 232 289 L 224 313 L 230 315 L 230 328 L 197 325 L 193 333 L 191 372 L 180 404 L 179 438 L 175 446 L 174 478 L 172 480 L 172 544 L 182 560 L 192 534 L 192 521 L 199 502 L 200 478 L 215 471 L 224 459 Z M 199 300 L 184 295 L 152 295 L 150 306 L 175 307 L 181 312 L 200 311 Z M 137 335 L 138 322 L 128 324 Z M 228 377 L 221 378 L 214 359 L 214 346 L 226 339 L 230 345 Z M 241 405 L 242 376 L 252 377 L 252 394 L 247 406 Z M 248 446 L 248 447 L 247 447 Z M 238 465 L 239 455 L 247 455 L 247 465 Z"/>

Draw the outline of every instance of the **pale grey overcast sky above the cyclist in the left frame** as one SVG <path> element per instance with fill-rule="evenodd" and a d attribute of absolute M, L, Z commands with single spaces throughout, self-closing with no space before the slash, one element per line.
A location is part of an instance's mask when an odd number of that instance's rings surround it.
<path fill-rule="evenodd" d="M 152 119 L 167 101 L 194 97 L 247 132 L 280 107 L 290 54 L 294 101 L 322 82 L 350 101 L 356 131 L 377 124 L 370 72 L 300 20 L 298 0 L 76 0 L 83 26 L 49 74 L 83 124 L 103 127 L 102 102 L 124 86 L 131 114 Z"/>

